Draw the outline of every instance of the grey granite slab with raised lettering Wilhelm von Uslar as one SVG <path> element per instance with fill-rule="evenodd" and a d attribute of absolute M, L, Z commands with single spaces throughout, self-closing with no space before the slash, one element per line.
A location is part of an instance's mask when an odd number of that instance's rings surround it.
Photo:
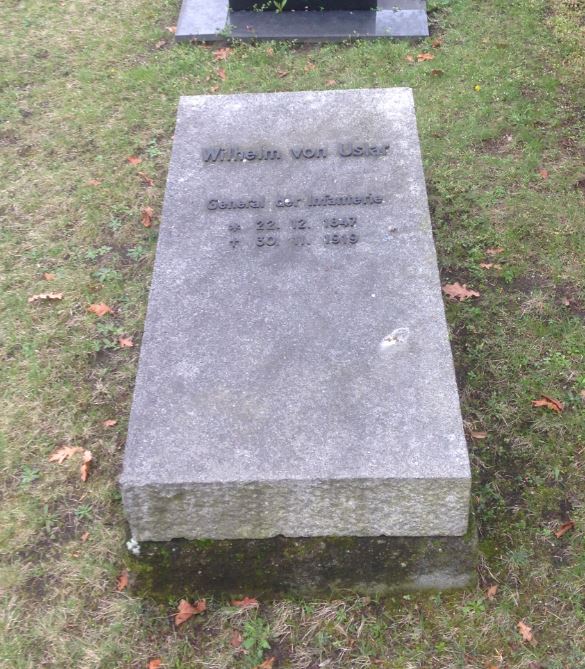
<path fill-rule="evenodd" d="M 410 89 L 181 99 L 121 484 L 139 542 L 466 532 Z"/>

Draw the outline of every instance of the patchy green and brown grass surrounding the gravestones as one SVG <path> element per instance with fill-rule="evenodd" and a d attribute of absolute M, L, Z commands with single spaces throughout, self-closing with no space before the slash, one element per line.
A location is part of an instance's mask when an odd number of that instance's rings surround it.
<path fill-rule="evenodd" d="M 585 5 L 429 4 L 434 34 L 418 44 L 238 44 L 216 62 L 172 45 L 176 0 L 3 3 L 2 667 L 585 667 Z M 423 51 L 434 60 L 407 60 Z M 115 585 L 116 478 L 178 96 L 380 86 L 415 89 L 443 279 L 481 293 L 446 303 L 466 426 L 488 433 L 469 441 L 481 587 L 251 611 L 212 601 L 176 630 L 176 602 Z M 50 291 L 63 299 L 27 302 Z M 114 315 L 88 313 L 97 302 Z M 533 408 L 541 394 L 564 412 Z M 64 444 L 93 453 L 87 483 L 79 460 L 49 463 Z"/>

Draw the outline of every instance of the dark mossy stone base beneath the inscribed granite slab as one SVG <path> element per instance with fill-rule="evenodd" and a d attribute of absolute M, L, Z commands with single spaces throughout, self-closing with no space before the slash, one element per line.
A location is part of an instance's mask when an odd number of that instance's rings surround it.
<path fill-rule="evenodd" d="M 180 596 L 330 597 L 446 590 L 475 583 L 477 534 L 173 540 L 135 546 L 133 592 Z"/>

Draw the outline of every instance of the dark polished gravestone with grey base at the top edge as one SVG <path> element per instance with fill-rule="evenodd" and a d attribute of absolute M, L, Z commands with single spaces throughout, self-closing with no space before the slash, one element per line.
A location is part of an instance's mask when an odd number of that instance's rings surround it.
<path fill-rule="evenodd" d="M 427 37 L 425 0 L 183 0 L 178 41 Z M 278 4 L 280 6 L 280 4 Z"/>

